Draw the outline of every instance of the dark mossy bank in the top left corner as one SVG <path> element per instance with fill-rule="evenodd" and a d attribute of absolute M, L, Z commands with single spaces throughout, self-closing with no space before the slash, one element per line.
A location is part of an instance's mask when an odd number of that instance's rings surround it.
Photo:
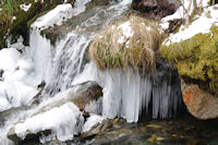
<path fill-rule="evenodd" d="M 12 35 L 12 40 L 22 35 L 25 45 L 28 45 L 29 25 L 41 15 L 41 12 L 48 12 L 48 10 L 60 4 L 60 0 L 53 0 L 51 4 L 49 0 L 46 0 L 44 3 L 35 2 L 35 0 L 2 0 L 0 3 L 0 49 L 5 47 L 5 39 L 9 35 Z M 20 8 L 24 3 L 32 3 L 28 11 Z"/>

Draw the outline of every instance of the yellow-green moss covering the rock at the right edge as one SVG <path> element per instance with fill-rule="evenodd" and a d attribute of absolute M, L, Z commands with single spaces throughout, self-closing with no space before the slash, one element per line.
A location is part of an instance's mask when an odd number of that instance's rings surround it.
<path fill-rule="evenodd" d="M 180 75 L 208 83 L 218 88 L 218 27 L 181 43 L 161 46 L 162 57 L 173 61 Z M 216 90 L 218 94 L 218 90 Z"/>

